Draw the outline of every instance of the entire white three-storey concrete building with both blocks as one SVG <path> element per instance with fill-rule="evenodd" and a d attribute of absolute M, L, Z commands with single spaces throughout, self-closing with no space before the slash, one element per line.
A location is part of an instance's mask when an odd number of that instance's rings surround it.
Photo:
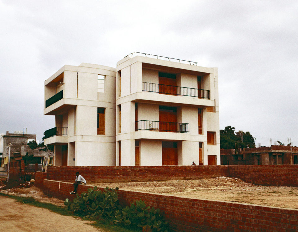
<path fill-rule="evenodd" d="M 220 165 L 217 68 L 169 60 L 132 54 L 47 79 L 45 100 L 63 90 L 44 107 L 55 165 Z"/>

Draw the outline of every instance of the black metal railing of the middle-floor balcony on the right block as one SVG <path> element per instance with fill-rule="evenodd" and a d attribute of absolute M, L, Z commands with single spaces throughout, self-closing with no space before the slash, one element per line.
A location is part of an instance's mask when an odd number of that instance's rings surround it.
<path fill-rule="evenodd" d="M 140 120 L 135 122 L 135 130 L 186 133 L 189 132 L 189 124 L 182 122 L 160 122 Z"/>

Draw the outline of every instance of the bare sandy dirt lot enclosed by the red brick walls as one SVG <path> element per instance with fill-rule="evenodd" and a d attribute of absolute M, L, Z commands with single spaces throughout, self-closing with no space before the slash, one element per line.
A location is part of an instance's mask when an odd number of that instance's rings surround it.
<path fill-rule="evenodd" d="M 297 187 L 253 185 L 238 178 L 223 176 L 200 180 L 96 183 L 94 185 L 196 199 L 224 200 L 298 209 Z"/>

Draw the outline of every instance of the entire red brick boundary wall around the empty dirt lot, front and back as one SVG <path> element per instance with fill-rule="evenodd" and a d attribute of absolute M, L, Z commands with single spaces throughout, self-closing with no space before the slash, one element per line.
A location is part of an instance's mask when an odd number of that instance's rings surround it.
<path fill-rule="evenodd" d="M 298 165 L 49 166 L 47 173 L 36 173 L 36 183 L 49 196 L 72 200 L 74 195 L 69 192 L 73 190 L 76 171 L 87 179 L 87 183 L 230 176 L 254 184 L 298 186 Z M 89 187 L 93 186 L 79 185 L 78 193 L 87 191 Z M 124 205 L 141 199 L 151 207 L 160 208 L 172 231 L 298 231 L 296 209 L 124 190 L 118 193 Z"/>

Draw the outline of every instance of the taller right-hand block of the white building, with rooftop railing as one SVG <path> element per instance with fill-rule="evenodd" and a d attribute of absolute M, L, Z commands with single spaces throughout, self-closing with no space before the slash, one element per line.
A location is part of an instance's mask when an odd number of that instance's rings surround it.
<path fill-rule="evenodd" d="M 117 63 L 116 164 L 220 165 L 217 68 L 133 55 Z"/>

